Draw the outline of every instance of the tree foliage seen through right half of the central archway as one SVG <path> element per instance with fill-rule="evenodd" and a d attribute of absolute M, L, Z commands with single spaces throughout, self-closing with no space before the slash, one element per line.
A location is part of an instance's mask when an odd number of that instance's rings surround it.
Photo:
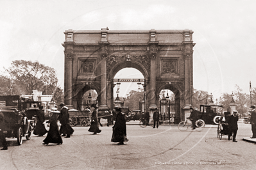
<path fill-rule="evenodd" d="M 126 95 L 124 105 L 128 106 L 131 111 L 139 109 L 140 100 L 143 100 L 143 91 L 132 90 L 128 95 Z"/>

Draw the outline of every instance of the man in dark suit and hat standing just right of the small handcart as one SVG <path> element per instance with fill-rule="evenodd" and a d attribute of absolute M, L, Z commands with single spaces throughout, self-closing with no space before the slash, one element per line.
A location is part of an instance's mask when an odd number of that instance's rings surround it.
<path fill-rule="evenodd" d="M 237 126 L 237 121 L 238 121 L 238 115 L 237 115 L 237 111 L 233 111 L 233 114 L 228 116 L 228 120 L 226 121 L 226 123 L 228 123 L 228 130 L 229 130 L 229 134 L 228 134 L 228 141 L 230 141 L 230 137 L 233 135 L 233 142 L 237 143 L 237 141 L 235 141 L 235 137 L 237 135 L 237 130 L 238 130 L 238 126 Z"/>

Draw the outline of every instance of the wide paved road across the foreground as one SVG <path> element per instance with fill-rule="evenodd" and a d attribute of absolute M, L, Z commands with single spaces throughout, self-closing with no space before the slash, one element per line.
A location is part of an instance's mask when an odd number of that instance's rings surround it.
<path fill-rule="evenodd" d="M 8 139 L 0 169 L 256 169 L 256 145 L 243 141 L 252 135 L 244 123 L 239 123 L 238 143 L 227 136 L 219 140 L 212 125 L 185 132 L 127 125 L 130 141 L 122 146 L 110 142 L 112 127 L 100 128 L 100 134 L 91 135 L 89 127 L 74 127 L 62 145 L 42 145 L 45 136 L 23 137 L 21 146 Z"/>

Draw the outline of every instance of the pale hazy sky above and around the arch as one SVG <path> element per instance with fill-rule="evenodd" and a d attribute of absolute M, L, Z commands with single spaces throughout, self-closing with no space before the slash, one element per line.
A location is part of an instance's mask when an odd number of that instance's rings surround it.
<path fill-rule="evenodd" d="M 64 88 L 65 30 L 191 29 L 195 89 L 218 98 L 235 85 L 249 94 L 250 81 L 256 88 L 253 0 L 1 0 L 0 6 L 0 71 L 14 60 L 39 61 L 55 68 Z"/>

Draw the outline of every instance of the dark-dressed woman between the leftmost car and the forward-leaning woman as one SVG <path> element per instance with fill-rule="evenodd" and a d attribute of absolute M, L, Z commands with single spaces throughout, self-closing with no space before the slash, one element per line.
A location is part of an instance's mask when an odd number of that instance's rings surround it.
<path fill-rule="evenodd" d="M 35 125 L 34 135 L 43 136 L 47 133 L 46 127 L 44 126 L 44 111 L 42 110 L 43 106 L 39 106 L 37 112 L 37 124 Z"/>

